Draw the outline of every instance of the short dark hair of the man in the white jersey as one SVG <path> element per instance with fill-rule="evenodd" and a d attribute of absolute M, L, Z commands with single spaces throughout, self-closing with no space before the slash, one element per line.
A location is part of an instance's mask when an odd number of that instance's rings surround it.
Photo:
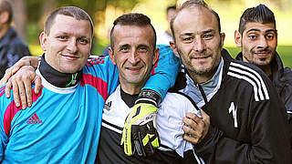
<path fill-rule="evenodd" d="M 154 38 L 152 39 L 152 46 L 155 50 L 156 46 L 156 32 L 154 27 L 151 25 L 151 19 L 147 15 L 139 14 L 139 13 L 129 13 L 125 15 L 120 15 L 114 22 L 113 26 L 110 30 L 110 47 L 113 49 L 114 46 L 114 38 L 113 32 L 115 26 L 151 26 Z"/>

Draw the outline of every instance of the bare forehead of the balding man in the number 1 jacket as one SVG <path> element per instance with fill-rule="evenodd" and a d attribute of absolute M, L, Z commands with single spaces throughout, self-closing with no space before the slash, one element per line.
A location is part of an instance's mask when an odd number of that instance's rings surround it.
<path fill-rule="evenodd" d="M 183 9 L 173 22 L 175 35 L 183 35 L 188 33 L 199 34 L 205 30 L 218 31 L 218 22 L 209 10 L 200 6 L 191 6 Z M 194 28 L 196 31 L 193 31 Z"/>

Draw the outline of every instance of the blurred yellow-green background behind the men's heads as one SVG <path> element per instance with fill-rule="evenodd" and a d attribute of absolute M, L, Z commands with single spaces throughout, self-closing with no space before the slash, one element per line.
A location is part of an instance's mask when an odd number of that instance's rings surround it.
<path fill-rule="evenodd" d="M 129 12 L 151 17 L 156 31 L 167 29 L 166 8 L 181 4 L 185 0 L 11 0 L 14 3 L 14 26 L 26 41 L 35 56 L 43 51 L 38 44 L 38 35 L 43 29 L 47 14 L 58 6 L 76 5 L 89 13 L 95 24 L 95 42 L 92 54 L 99 55 L 109 45 L 112 22 L 119 15 Z M 284 66 L 292 67 L 292 1 L 291 0 L 205 0 L 221 18 L 222 31 L 226 38 L 224 47 L 236 56 L 240 48 L 235 47 L 234 32 L 239 18 L 247 7 L 267 5 L 276 15 L 278 31 L 277 52 Z"/>

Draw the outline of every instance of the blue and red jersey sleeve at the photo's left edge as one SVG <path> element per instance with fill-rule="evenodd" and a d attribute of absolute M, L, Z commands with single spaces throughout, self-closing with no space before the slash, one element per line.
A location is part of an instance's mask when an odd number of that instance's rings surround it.
<path fill-rule="evenodd" d="M 13 97 L 5 97 L 5 86 L 0 88 L 0 162 L 3 160 L 5 155 L 5 147 L 8 142 L 8 136 L 10 132 L 10 123 L 12 121 L 11 116 L 13 113 L 7 109 L 11 104 Z"/>

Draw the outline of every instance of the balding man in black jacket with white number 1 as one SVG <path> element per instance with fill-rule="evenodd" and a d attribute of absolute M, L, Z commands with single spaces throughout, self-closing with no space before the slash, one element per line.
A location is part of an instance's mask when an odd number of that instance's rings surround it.
<path fill-rule="evenodd" d="M 292 163 L 286 108 L 255 66 L 223 49 L 219 16 L 203 1 L 185 2 L 172 19 L 172 49 L 184 73 L 174 89 L 210 117 L 188 113 L 184 139 L 206 163 Z"/>

